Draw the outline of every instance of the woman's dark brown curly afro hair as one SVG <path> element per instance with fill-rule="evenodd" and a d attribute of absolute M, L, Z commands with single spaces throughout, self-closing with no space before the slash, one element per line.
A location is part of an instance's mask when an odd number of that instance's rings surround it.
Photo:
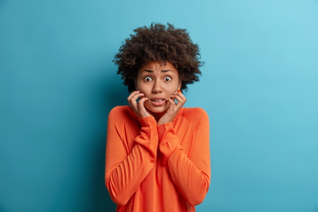
<path fill-rule="evenodd" d="M 202 75 L 201 56 L 198 44 L 194 44 L 186 29 L 175 28 L 172 24 L 155 23 L 149 27 L 134 29 L 134 35 L 122 42 L 113 62 L 118 65 L 117 74 L 121 75 L 128 91 L 135 90 L 138 70 L 148 62 L 158 61 L 166 65 L 170 62 L 178 70 L 182 80 L 181 90 L 187 90 L 187 84 L 199 81 Z"/>

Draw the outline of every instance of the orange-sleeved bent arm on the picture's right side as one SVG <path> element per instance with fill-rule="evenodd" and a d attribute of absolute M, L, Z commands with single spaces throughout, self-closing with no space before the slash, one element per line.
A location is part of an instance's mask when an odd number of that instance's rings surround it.
<path fill-rule="evenodd" d="M 202 109 L 196 115 L 200 117 L 200 123 L 193 132 L 194 143 L 189 157 L 184 154 L 172 123 L 157 127 L 163 163 L 190 205 L 200 204 L 210 185 L 209 119 Z"/>

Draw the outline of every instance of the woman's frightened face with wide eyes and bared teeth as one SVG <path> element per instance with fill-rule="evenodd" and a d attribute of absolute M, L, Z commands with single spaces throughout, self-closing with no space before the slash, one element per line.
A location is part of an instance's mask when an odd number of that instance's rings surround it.
<path fill-rule="evenodd" d="M 149 100 L 144 106 L 152 113 L 163 113 L 169 107 L 170 96 L 181 88 L 178 70 L 167 62 L 149 62 L 138 70 L 136 89 L 145 94 Z"/>

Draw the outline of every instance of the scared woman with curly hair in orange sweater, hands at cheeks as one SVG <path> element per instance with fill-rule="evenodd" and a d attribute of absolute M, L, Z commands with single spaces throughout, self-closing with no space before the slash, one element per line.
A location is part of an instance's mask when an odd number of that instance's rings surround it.
<path fill-rule="evenodd" d="M 184 108 L 199 81 L 197 44 L 185 29 L 135 29 L 115 55 L 129 106 L 108 116 L 105 184 L 116 211 L 195 211 L 210 184 L 209 119 Z"/>

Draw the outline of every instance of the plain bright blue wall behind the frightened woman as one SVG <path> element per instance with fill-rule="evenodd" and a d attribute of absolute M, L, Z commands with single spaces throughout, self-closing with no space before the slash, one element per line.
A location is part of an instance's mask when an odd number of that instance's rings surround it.
<path fill-rule="evenodd" d="M 205 61 L 185 105 L 210 117 L 197 210 L 317 212 L 317 0 L 0 0 L 0 211 L 114 211 L 107 115 L 128 92 L 112 59 L 153 21 Z"/>

